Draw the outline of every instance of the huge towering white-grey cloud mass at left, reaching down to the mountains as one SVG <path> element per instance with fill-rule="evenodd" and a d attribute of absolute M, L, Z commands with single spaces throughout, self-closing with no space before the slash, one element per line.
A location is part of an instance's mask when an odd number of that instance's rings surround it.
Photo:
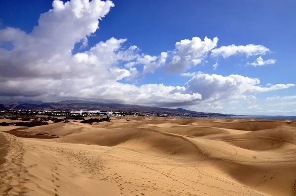
<path fill-rule="evenodd" d="M 72 53 L 76 43 L 88 44 L 87 37 L 97 31 L 99 20 L 114 6 L 111 1 L 54 0 L 52 6 L 40 15 L 32 33 L 16 28 L 0 30 L 0 41 L 14 46 L 12 50 L 0 50 L 2 97 L 93 98 L 139 104 L 182 103 L 201 98 L 198 93 L 178 92 L 179 87 L 136 87 L 118 82 L 139 75 L 134 67 L 137 64 L 143 65 L 144 72 L 153 72 L 165 64 L 166 52 L 158 57 L 139 55 L 137 46 L 123 47 L 127 39 L 111 37 L 85 52 Z M 121 62 L 124 67 L 119 66 Z"/>

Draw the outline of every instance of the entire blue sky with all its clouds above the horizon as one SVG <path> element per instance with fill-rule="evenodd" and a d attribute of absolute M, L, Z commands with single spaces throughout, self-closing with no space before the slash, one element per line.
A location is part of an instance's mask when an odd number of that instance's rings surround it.
<path fill-rule="evenodd" d="M 296 115 L 295 7 L 295 0 L 4 0 L 0 96 Z"/>

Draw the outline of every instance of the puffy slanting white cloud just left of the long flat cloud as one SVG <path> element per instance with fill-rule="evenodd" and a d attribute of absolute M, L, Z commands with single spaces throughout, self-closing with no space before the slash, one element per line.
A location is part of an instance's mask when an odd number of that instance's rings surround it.
<path fill-rule="evenodd" d="M 207 57 L 207 54 L 217 46 L 217 43 L 217 37 L 214 37 L 213 40 L 205 37 L 203 41 L 199 37 L 192 37 L 192 40 L 184 39 L 177 42 L 168 70 L 170 72 L 183 72 L 200 64 Z"/>

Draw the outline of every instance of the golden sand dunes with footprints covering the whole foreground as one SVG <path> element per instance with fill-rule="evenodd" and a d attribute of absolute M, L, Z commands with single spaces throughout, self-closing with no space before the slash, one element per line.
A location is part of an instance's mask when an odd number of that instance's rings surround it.
<path fill-rule="evenodd" d="M 295 194 L 293 120 L 129 117 L 25 131 L 61 137 L 0 131 L 0 195 Z"/>

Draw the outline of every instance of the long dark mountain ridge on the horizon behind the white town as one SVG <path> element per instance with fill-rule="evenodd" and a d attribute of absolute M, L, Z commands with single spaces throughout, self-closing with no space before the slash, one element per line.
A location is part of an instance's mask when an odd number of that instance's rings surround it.
<path fill-rule="evenodd" d="M 49 102 L 41 104 L 24 103 L 14 107 L 14 109 L 27 109 L 27 110 L 100 110 L 100 111 L 119 111 L 119 112 L 141 112 L 141 113 L 162 113 L 176 115 L 181 113 L 189 113 L 194 115 L 211 115 L 221 116 L 225 114 L 221 113 L 208 113 L 208 112 L 196 112 L 183 108 L 163 108 L 163 107 L 149 107 L 140 105 L 129 105 L 120 103 L 100 103 L 94 101 L 83 100 L 63 100 L 59 102 Z"/>

